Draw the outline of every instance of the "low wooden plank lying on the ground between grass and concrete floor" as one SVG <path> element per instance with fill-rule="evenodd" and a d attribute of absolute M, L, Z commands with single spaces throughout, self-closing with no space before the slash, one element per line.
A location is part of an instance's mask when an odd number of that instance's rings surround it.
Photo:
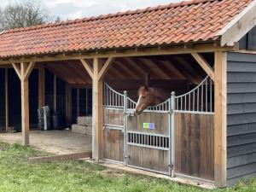
<path fill-rule="evenodd" d="M 91 151 L 75 153 L 75 154 L 59 154 L 44 157 L 32 157 L 28 159 L 30 164 L 35 163 L 48 163 L 52 161 L 63 161 L 63 160 L 79 160 L 84 158 L 91 158 Z"/>

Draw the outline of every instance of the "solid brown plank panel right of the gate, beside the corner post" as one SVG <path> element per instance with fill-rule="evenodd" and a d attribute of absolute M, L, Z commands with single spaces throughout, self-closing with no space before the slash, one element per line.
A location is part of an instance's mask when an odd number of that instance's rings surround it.
<path fill-rule="evenodd" d="M 176 172 L 214 180 L 213 115 L 176 113 Z"/>

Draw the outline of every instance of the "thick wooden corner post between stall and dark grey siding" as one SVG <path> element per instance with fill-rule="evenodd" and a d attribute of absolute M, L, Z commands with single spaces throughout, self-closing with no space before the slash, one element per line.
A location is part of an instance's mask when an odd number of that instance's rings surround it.
<path fill-rule="evenodd" d="M 227 54 L 215 53 L 214 90 L 214 178 L 217 187 L 226 186 L 227 177 Z"/>

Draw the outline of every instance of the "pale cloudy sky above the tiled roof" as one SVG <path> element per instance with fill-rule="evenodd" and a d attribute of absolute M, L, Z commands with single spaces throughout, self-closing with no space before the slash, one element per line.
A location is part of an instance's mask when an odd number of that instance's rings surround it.
<path fill-rule="evenodd" d="M 1 6 L 9 3 L 20 3 L 24 0 L 1 0 Z M 96 15 L 116 13 L 157 6 L 160 4 L 176 3 L 180 0 L 41 0 L 53 16 L 61 20 L 78 19 Z"/>

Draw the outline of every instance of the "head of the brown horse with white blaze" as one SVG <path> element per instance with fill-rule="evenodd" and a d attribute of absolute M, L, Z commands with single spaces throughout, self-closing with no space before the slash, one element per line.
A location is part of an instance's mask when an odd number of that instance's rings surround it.
<path fill-rule="evenodd" d="M 151 88 L 147 86 L 140 87 L 137 92 L 138 101 L 135 108 L 135 113 L 140 114 L 148 108 L 148 106 L 154 105 L 154 93 Z"/>

